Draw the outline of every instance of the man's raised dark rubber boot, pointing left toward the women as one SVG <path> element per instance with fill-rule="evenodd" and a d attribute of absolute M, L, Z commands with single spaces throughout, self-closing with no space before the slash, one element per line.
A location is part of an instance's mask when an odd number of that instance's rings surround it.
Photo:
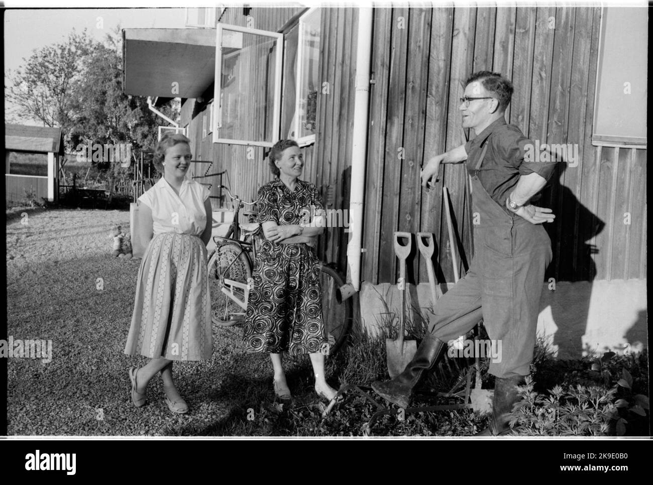
<path fill-rule="evenodd" d="M 406 409 L 413 387 L 419 381 L 422 372 L 433 367 L 444 348 L 445 343 L 438 337 L 430 333 L 426 334 L 406 369 L 390 381 L 374 381 L 372 389 L 387 401 Z"/>

